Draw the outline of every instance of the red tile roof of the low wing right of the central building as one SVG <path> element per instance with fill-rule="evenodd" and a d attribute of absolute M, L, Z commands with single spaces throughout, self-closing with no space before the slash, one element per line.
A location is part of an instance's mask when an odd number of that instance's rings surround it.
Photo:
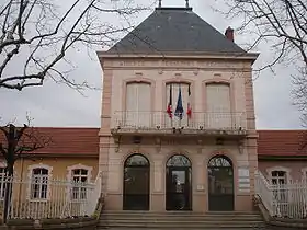
<path fill-rule="evenodd" d="M 307 130 L 258 130 L 258 156 L 307 156 Z"/>

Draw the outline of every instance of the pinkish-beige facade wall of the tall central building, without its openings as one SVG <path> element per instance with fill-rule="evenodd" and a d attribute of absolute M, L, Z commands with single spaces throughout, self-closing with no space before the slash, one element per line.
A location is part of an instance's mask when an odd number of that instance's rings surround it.
<path fill-rule="evenodd" d="M 235 210 L 251 210 L 253 173 L 258 166 L 257 133 L 252 93 L 251 66 L 257 55 L 247 57 L 114 58 L 99 54 L 103 67 L 102 126 L 100 130 L 100 170 L 103 172 L 103 192 L 106 209 L 123 209 L 123 168 L 128 156 L 140 153 L 150 162 L 150 210 L 166 210 L 166 162 L 173 154 L 184 154 L 192 163 L 192 210 L 208 210 L 207 163 L 217 154 L 227 156 L 234 165 Z M 194 112 L 205 113 L 205 85 L 208 82 L 226 82 L 230 85 L 231 112 L 242 114 L 243 138 L 224 136 L 223 145 L 216 145 L 216 136 L 144 135 L 140 143 L 134 143 L 130 135 L 115 136 L 115 115 L 125 111 L 125 92 L 128 82 L 148 82 L 151 89 L 151 111 L 167 108 L 166 83 L 189 82 L 192 88 Z M 137 134 L 139 135 L 139 134 Z M 184 136 L 181 136 L 184 137 Z M 231 136 L 234 137 L 234 136 Z"/>

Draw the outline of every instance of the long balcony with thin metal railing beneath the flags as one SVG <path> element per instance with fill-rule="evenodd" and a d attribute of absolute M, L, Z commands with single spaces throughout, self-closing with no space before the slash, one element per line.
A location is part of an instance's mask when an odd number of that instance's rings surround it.
<path fill-rule="evenodd" d="M 180 119 L 163 112 L 115 112 L 111 133 L 116 135 L 246 136 L 245 113 L 186 114 Z"/>

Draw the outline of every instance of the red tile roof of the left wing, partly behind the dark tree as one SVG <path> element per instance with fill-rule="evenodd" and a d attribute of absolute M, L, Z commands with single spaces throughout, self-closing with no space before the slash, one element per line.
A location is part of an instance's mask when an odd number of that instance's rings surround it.
<path fill-rule="evenodd" d="M 58 156 L 99 156 L 99 128 L 38 127 L 32 129 L 35 129 L 35 136 L 38 136 L 39 139 L 44 138 L 44 140 L 48 140 L 44 148 L 37 149 L 33 153 Z M 4 136 L 1 133 L 0 143 L 2 142 L 7 146 L 7 141 L 3 140 Z"/>

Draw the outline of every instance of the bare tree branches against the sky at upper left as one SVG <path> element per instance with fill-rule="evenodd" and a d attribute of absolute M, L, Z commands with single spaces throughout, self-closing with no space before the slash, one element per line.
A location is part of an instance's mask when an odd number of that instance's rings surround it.
<path fill-rule="evenodd" d="M 0 88 L 21 91 L 48 78 L 89 87 L 59 68 L 67 53 L 80 44 L 109 47 L 146 9 L 133 0 L 1 0 Z"/>

